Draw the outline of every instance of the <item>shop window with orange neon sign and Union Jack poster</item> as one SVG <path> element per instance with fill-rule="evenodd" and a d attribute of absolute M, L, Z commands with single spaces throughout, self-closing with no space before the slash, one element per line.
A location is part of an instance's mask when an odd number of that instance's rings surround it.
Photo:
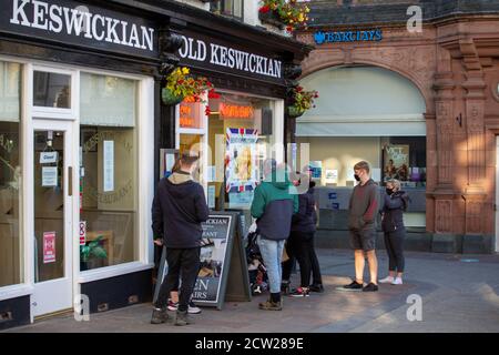
<path fill-rule="evenodd" d="M 215 209 L 248 209 L 263 163 L 273 155 L 271 100 L 223 93 L 211 99 L 208 119 L 208 204 Z"/>

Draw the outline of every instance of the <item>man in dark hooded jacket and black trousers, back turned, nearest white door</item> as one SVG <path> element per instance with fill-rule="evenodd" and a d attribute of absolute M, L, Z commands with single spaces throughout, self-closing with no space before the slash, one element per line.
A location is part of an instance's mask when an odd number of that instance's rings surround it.
<path fill-rule="evenodd" d="M 151 323 L 167 320 L 167 298 L 182 276 L 176 325 L 187 325 L 189 302 L 200 271 L 200 248 L 203 230 L 201 223 L 208 217 L 203 186 L 192 180 L 191 173 L 197 156 L 183 154 L 180 169 L 162 179 L 152 206 L 154 240 L 166 246 L 169 273 L 163 281 Z"/>

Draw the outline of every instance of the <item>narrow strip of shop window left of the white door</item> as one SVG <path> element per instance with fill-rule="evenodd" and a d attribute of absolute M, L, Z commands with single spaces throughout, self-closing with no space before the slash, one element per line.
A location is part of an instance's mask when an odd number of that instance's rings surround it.
<path fill-rule="evenodd" d="M 0 61 L 0 287 L 21 283 L 21 65 Z"/>

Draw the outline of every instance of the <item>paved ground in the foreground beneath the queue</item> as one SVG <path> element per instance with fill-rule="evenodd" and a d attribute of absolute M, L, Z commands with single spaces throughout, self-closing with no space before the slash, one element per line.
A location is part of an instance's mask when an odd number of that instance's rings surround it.
<path fill-rule="evenodd" d="M 363 293 L 336 290 L 349 283 L 354 274 L 350 251 L 317 252 L 325 292 L 302 298 L 285 297 L 282 312 L 259 311 L 257 304 L 266 297 L 262 295 L 253 297 L 252 302 L 227 302 L 222 311 L 204 307 L 202 314 L 193 316 L 195 324 L 179 327 L 150 324 L 151 305 L 139 304 L 91 314 L 89 322 L 77 322 L 72 315 L 64 315 L 6 332 L 499 332 L 499 255 L 408 252 L 404 285 L 380 285 L 377 293 Z M 388 264 L 384 251 L 378 252 L 378 261 L 383 278 Z M 367 272 L 365 280 L 368 280 Z M 296 284 L 297 275 L 293 281 Z M 418 308 L 419 300 L 421 306 Z"/>

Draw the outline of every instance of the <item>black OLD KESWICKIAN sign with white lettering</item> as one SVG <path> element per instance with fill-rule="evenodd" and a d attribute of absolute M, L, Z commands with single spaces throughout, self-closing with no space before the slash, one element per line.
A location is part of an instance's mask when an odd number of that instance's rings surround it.
<path fill-rule="evenodd" d="M 177 53 L 182 63 L 267 80 L 283 78 L 283 64 L 277 59 L 197 34 L 183 36 L 182 40 L 183 44 Z"/>

